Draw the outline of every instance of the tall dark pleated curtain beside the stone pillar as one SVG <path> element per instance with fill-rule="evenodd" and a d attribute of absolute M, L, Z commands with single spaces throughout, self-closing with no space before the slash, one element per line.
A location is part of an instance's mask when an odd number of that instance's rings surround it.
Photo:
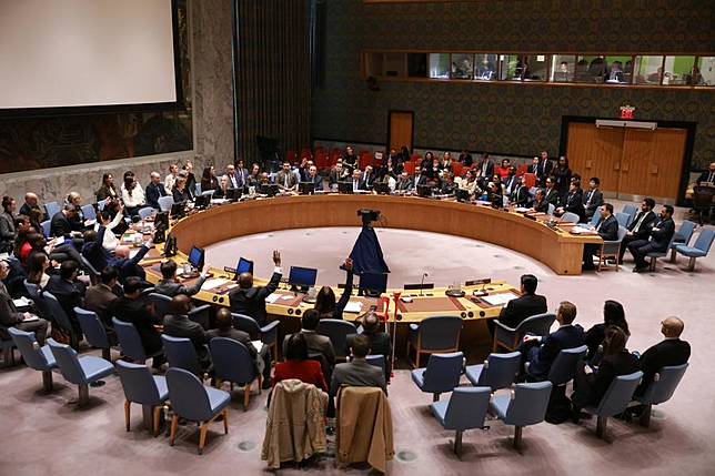
<path fill-rule="evenodd" d="M 310 0 L 235 0 L 236 153 L 260 161 L 256 136 L 311 145 Z"/>

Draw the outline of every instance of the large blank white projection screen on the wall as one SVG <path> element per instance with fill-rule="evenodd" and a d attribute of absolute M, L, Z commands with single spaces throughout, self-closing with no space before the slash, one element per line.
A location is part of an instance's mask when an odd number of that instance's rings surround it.
<path fill-rule="evenodd" d="M 0 109 L 177 101 L 171 0 L 0 0 Z"/>

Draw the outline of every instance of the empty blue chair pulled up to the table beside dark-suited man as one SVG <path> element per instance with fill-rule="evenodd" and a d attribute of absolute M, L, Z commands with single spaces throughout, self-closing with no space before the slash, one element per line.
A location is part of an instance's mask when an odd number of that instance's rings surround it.
<path fill-rule="evenodd" d="M 412 366 L 420 367 L 421 354 L 457 352 L 461 332 L 462 317 L 459 316 L 433 316 L 420 324 L 410 324 L 407 357 L 411 358 L 410 347 L 415 353 L 414 361 L 410 361 Z"/>

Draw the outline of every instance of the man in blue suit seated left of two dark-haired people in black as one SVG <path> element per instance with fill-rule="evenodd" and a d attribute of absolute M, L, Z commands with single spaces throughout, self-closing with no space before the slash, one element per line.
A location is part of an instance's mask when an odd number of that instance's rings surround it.
<path fill-rule="evenodd" d="M 564 348 L 573 348 L 583 345 L 584 332 L 578 324 L 573 325 L 576 318 L 576 306 L 564 301 L 556 312 L 558 330 L 546 337 L 526 336 L 524 343 L 518 347 L 522 358 L 528 362 L 526 372 L 534 378 L 545 378 L 551 369 L 551 364 Z"/>

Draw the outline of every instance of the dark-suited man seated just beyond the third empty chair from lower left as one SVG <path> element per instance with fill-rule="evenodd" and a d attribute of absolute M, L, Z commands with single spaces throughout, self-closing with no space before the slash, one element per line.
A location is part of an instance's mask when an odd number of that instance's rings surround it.
<path fill-rule="evenodd" d="M 147 301 L 141 295 L 143 286 L 143 281 L 137 276 L 127 278 L 123 286 L 124 295 L 114 302 L 112 315 L 119 321 L 134 324 L 144 352 L 151 355 L 163 347 L 161 335 L 154 327 L 163 323 L 149 310 Z M 152 366 L 159 368 L 163 363 L 164 357 L 160 354 L 154 357 Z"/>

